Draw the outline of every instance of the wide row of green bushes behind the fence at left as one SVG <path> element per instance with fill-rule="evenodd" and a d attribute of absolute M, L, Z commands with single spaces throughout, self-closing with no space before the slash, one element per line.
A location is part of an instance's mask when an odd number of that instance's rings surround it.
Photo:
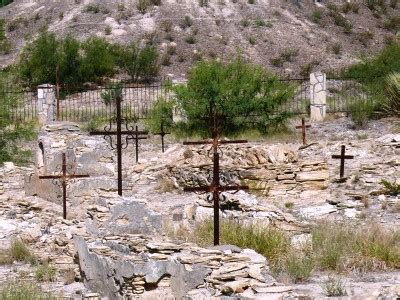
<path fill-rule="evenodd" d="M 42 29 L 22 51 L 16 70 L 28 85 L 55 84 L 57 68 L 60 82 L 69 85 L 101 82 L 113 76 L 117 67 L 134 80 L 150 81 L 158 75 L 157 59 L 157 49 L 151 45 L 139 48 L 132 43 L 123 47 L 100 37 L 82 43 L 71 36 L 58 40 Z"/>

